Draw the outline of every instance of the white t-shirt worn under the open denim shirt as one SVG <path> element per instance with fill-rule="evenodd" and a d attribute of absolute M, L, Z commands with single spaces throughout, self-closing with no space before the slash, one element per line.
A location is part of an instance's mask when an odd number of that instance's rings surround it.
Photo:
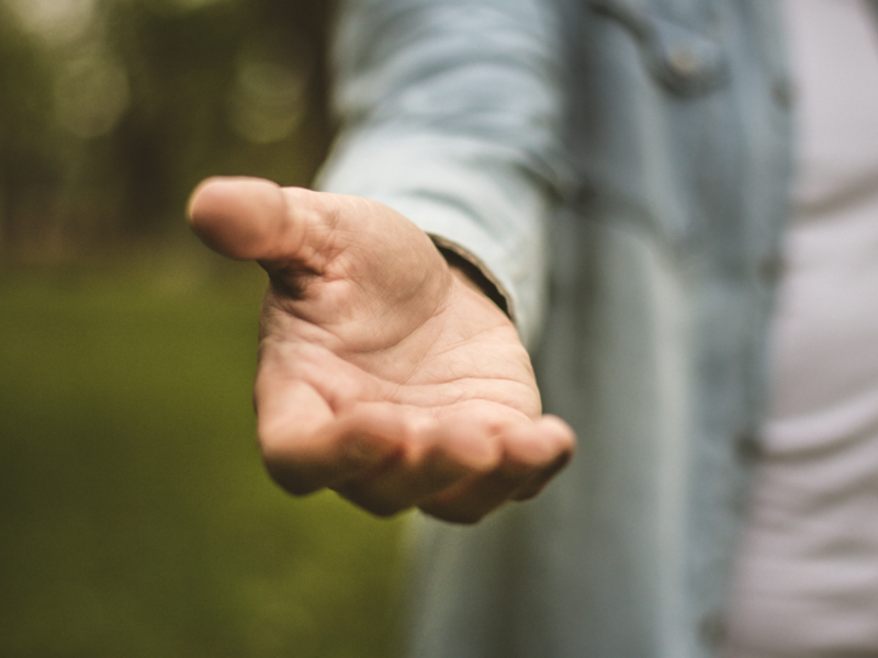
<path fill-rule="evenodd" d="M 878 12 L 785 10 L 793 216 L 727 656 L 878 656 Z"/>

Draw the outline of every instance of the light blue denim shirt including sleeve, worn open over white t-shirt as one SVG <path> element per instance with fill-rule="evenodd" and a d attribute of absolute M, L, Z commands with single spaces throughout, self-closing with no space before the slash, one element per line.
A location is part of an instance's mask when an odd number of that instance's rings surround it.
<path fill-rule="evenodd" d="M 324 189 L 476 263 L 576 458 L 423 520 L 417 658 L 695 658 L 758 454 L 791 90 L 769 0 L 350 0 Z"/>

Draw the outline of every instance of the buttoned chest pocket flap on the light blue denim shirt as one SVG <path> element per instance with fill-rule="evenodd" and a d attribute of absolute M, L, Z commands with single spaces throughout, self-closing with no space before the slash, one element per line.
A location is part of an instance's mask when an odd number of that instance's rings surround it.
<path fill-rule="evenodd" d="M 633 35 L 644 65 L 668 90 L 694 97 L 725 82 L 725 57 L 714 41 L 628 0 L 589 0 L 589 4 Z"/>

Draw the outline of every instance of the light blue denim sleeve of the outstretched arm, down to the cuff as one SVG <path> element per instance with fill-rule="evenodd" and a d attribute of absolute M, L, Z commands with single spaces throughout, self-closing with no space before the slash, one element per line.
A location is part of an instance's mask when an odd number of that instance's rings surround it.
<path fill-rule="evenodd" d="M 477 265 L 526 344 L 545 297 L 545 219 L 566 175 L 561 39 L 548 7 L 342 3 L 341 131 L 317 182 L 390 205 Z"/>

